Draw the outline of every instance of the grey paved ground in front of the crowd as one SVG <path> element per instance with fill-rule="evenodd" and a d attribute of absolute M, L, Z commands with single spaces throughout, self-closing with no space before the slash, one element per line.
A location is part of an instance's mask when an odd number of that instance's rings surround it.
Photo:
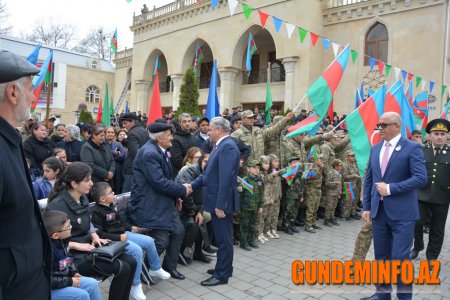
<path fill-rule="evenodd" d="M 373 286 L 296 286 L 291 281 L 293 260 L 350 259 L 360 221 L 343 222 L 340 227 L 326 228 L 310 234 L 301 230 L 293 236 L 280 233 L 259 249 L 247 252 L 235 248 L 234 272 L 228 285 L 212 288 L 200 286 L 209 277 L 206 270 L 211 264 L 194 262 L 179 266 L 185 280 L 170 279 L 150 287 L 144 286 L 147 299 L 359 299 L 373 294 Z M 427 237 L 427 235 L 425 235 Z M 414 299 L 450 298 L 450 219 L 447 220 L 446 237 L 441 259 L 441 285 L 415 286 Z M 368 259 L 373 259 L 371 248 Z M 418 259 L 425 259 L 424 251 Z M 109 283 L 102 283 L 103 299 L 108 297 Z M 395 299 L 396 297 L 393 297 Z"/>

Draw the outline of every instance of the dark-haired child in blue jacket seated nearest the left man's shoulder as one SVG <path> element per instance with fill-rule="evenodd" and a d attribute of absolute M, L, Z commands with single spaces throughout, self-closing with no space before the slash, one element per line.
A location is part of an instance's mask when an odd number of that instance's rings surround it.
<path fill-rule="evenodd" d="M 56 179 L 64 173 L 64 165 L 57 157 L 49 157 L 42 163 L 44 177 L 33 182 L 34 194 L 37 200 L 48 198 Z"/>

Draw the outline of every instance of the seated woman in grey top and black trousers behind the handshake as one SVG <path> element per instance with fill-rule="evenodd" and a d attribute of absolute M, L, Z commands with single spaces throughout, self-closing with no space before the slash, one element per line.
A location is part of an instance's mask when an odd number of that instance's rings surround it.
<path fill-rule="evenodd" d="M 187 151 L 185 161 L 188 160 L 189 153 L 194 149 L 194 159 L 190 166 L 184 166 L 178 173 L 175 181 L 179 183 L 191 183 L 200 174 L 203 173 L 206 163 L 208 162 L 209 154 L 203 154 L 199 148 L 193 147 Z M 198 154 L 198 155 L 197 155 Z M 209 263 L 211 259 L 207 257 L 202 252 L 202 244 L 205 241 L 205 248 L 209 247 L 209 237 L 205 225 L 203 224 L 203 200 L 202 200 L 202 190 L 195 191 L 188 197 L 183 199 L 183 206 L 180 211 L 180 219 L 185 228 L 185 236 L 183 244 L 181 245 L 180 258 L 181 264 L 190 264 L 192 259 L 184 255 L 184 250 L 186 248 L 192 247 L 195 241 L 195 250 L 193 253 L 193 259 Z"/>

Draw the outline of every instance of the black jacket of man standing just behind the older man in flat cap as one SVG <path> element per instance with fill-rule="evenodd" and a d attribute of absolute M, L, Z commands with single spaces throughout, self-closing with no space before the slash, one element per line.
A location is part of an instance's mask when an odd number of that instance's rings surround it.
<path fill-rule="evenodd" d="M 183 159 L 186 156 L 187 151 L 191 147 L 197 147 L 197 138 L 193 133 L 186 132 L 177 126 L 177 131 L 173 134 L 172 148 L 170 149 L 171 162 L 173 167 L 173 173 L 175 176 L 180 171 Z"/>

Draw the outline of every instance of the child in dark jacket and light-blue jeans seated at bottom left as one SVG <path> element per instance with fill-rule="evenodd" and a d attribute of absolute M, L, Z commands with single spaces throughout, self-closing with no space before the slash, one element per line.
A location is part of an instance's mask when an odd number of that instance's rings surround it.
<path fill-rule="evenodd" d="M 67 253 L 72 229 L 67 214 L 52 210 L 44 212 L 42 217 L 52 244 L 52 299 L 101 300 L 97 280 L 82 277 Z"/>

